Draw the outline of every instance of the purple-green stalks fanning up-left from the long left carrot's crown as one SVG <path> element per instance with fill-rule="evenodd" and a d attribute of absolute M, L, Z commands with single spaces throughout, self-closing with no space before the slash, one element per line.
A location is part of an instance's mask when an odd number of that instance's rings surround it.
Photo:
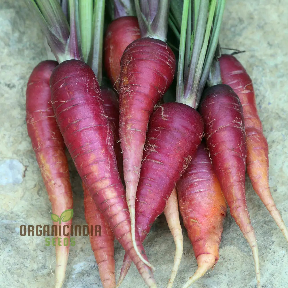
<path fill-rule="evenodd" d="M 70 28 L 57 0 L 27 0 L 27 3 L 34 11 L 57 61 L 81 60 L 77 46 L 75 0 L 69 1 Z M 67 11 L 67 5 L 63 7 Z"/>

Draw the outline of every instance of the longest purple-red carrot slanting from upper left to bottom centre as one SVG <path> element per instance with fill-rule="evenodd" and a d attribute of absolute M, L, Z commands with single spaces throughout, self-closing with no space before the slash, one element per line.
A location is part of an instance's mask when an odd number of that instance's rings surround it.
<path fill-rule="evenodd" d="M 153 273 L 133 248 L 113 133 L 96 76 L 84 62 L 67 60 L 53 71 L 50 87 L 56 120 L 80 177 L 147 285 L 154 287 Z M 136 240 L 138 249 L 147 259 L 138 233 Z"/>

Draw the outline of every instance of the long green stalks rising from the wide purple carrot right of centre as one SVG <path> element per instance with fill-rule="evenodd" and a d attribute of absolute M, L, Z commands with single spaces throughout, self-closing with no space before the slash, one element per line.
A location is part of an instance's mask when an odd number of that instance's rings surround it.
<path fill-rule="evenodd" d="M 196 109 L 217 48 L 225 0 L 191 2 L 183 1 L 176 101 Z M 175 12 L 170 12 L 169 23 L 179 30 Z"/>

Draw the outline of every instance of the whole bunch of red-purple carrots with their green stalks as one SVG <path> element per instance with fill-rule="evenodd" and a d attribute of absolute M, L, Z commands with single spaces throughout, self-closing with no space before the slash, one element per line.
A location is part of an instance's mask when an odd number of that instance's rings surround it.
<path fill-rule="evenodd" d="M 31 73 L 27 130 L 56 215 L 73 206 L 65 147 L 73 159 L 88 226 L 102 228 L 101 236 L 89 234 L 103 287 L 116 287 L 114 238 L 126 252 L 117 287 L 132 262 L 156 287 L 142 242 L 162 212 L 176 245 L 172 287 L 183 251 L 178 209 L 198 264 L 189 287 L 219 259 L 226 203 L 251 246 L 260 287 L 246 168 L 286 240 L 288 231 L 269 190 L 268 144 L 251 79 L 234 56 L 220 57 L 217 49 L 225 1 L 184 0 L 179 18 L 175 1 L 169 14 L 168 0 L 115 0 L 105 37 L 104 0 L 70 0 L 69 9 L 60 2 L 29 1 L 59 64 L 43 61 Z M 176 102 L 161 104 L 176 69 L 168 22 L 179 37 Z M 102 48 L 119 95 L 102 83 Z M 203 92 L 206 83 L 211 87 Z M 68 254 L 69 246 L 56 246 L 55 287 L 64 282 Z"/>

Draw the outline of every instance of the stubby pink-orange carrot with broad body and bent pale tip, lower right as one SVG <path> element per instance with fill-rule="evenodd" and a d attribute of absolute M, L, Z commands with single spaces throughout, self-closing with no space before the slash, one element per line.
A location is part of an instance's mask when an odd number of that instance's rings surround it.
<path fill-rule="evenodd" d="M 186 288 L 217 263 L 227 212 L 220 183 L 205 149 L 206 144 L 202 141 L 176 184 L 180 213 L 198 263 L 195 274 L 184 285 Z"/>

